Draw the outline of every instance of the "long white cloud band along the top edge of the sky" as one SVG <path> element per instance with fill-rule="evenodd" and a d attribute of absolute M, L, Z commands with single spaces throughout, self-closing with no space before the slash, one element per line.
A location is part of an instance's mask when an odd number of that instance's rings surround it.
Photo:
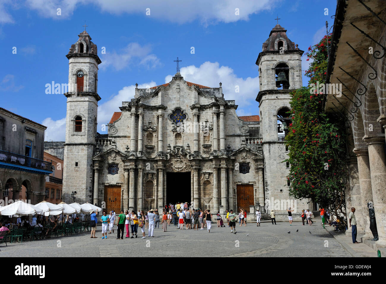
<path fill-rule="evenodd" d="M 103 12 L 111 14 L 139 14 L 151 19 L 169 20 L 178 24 L 198 19 L 205 25 L 248 20 L 250 15 L 270 10 L 278 2 L 278 0 L 25 0 L 30 9 L 37 10 L 42 17 L 53 19 L 64 19 L 71 16 L 77 6 L 95 5 Z M 57 15 L 58 8 L 61 9 L 61 16 Z M 150 15 L 146 15 L 146 9 L 150 9 Z M 235 9 L 239 9 L 239 15 L 236 15 Z"/>

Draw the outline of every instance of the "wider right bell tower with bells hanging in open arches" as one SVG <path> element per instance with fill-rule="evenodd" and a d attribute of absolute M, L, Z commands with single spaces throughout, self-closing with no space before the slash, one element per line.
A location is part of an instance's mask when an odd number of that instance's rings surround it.
<path fill-rule="evenodd" d="M 304 51 L 290 41 L 286 29 L 277 24 L 269 33 L 269 38 L 263 43 L 262 51 L 256 60 L 259 66 L 260 91 L 257 95 L 260 110 L 260 128 L 263 136 L 263 152 L 265 161 L 264 181 L 266 205 L 274 209 L 275 200 L 290 200 L 288 195 L 289 184 L 286 175 L 289 165 L 282 163 L 288 155 L 285 136 L 291 123 L 289 93 L 291 90 L 302 87 L 301 55 Z M 278 127 L 278 124 L 281 127 Z M 280 129 L 279 129 L 280 128 Z M 268 200 L 268 201 L 267 201 Z M 295 200 L 292 199 L 295 207 Z M 303 206 L 296 201 L 299 213 Z M 284 207 L 284 206 L 281 206 Z M 288 216 L 286 208 L 277 210 L 276 219 L 285 219 Z M 288 209 L 288 208 L 287 208 Z M 271 208 L 267 208 L 268 212 Z"/>

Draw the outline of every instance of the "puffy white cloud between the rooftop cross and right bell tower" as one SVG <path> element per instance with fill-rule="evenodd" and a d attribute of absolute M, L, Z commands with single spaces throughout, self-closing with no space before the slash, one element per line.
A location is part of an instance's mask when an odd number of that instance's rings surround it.
<path fill-rule="evenodd" d="M 221 66 L 218 62 L 205 62 L 196 67 L 194 65 L 181 68 L 181 76 L 185 81 L 204 85 L 207 87 L 219 87 L 222 82 L 222 92 L 225 100 L 235 100 L 239 105 L 237 114 L 251 113 L 257 114 L 256 96 L 259 92 L 259 77 L 254 78 L 237 77 L 234 70 L 229 66 Z M 257 73 L 257 72 L 256 72 Z M 165 78 L 165 83 L 171 81 L 173 75 L 168 75 Z M 239 86 L 239 92 L 236 92 Z M 247 114 L 247 115 L 248 115 Z"/>

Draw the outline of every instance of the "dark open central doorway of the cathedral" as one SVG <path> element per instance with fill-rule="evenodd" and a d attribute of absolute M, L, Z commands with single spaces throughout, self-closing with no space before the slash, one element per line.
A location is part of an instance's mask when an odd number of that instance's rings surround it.
<path fill-rule="evenodd" d="M 190 172 L 166 173 L 166 204 L 191 203 Z"/>

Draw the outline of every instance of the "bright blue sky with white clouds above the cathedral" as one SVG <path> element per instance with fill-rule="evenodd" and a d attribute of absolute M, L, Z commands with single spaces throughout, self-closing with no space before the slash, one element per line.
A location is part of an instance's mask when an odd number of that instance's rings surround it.
<path fill-rule="evenodd" d="M 336 0 L 0 0 L 0 106 L 46 125 L 46 140 L 64 141 L 66 97 L 47 95 L 45 85 L 68 83 L 65 55 L 86 21 L 102 60 L 98 132 L 122 101 L 134 97 L 135 83 L 169 82 L 177 56 L 185 80 L 209 87 L 222 82 L 239 116 L 258 114 L 255 62 L 276 15 L 289 39 L 306 51 L 325 34 L 326 20 L 332 26 L 335 7 Z"/>

